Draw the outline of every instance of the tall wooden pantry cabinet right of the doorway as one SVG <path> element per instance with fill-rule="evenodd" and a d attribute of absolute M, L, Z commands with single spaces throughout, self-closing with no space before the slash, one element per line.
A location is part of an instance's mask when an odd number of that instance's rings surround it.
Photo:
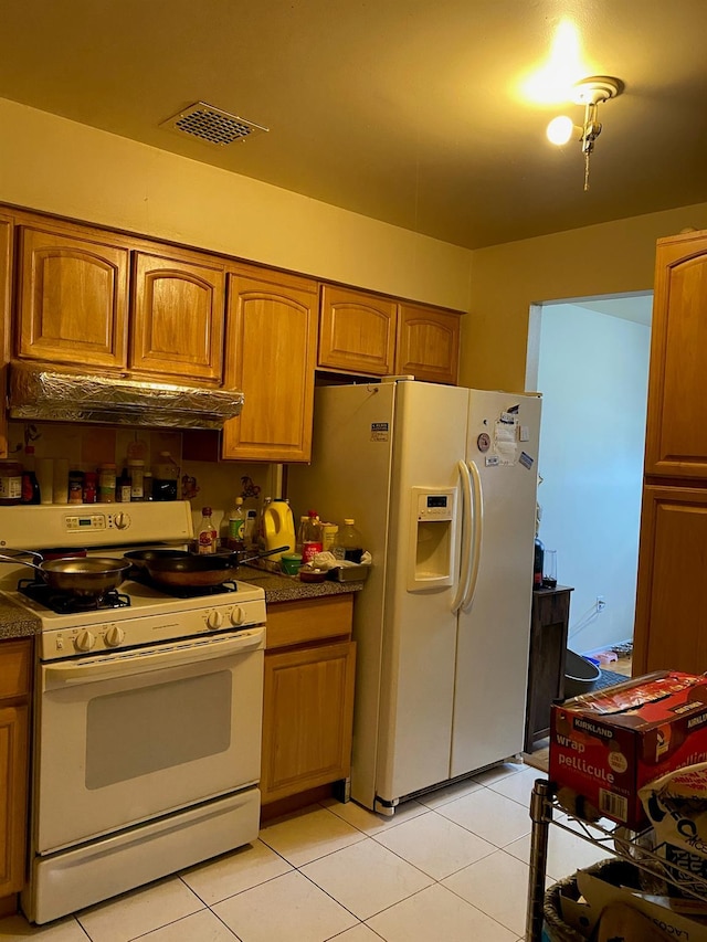
<path fill-rule="evenodd" d="M 633 673 L 707 670 L 707 231 L 657 242 Z"/>

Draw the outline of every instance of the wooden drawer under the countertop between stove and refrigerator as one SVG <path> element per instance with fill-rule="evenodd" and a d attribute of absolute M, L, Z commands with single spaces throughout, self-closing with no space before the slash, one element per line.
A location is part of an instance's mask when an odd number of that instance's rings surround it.
<path fill-rule="evenodd" d="M 267 608 L 267 649 L 351 634 L 354 595 L 283 602 Z"/>

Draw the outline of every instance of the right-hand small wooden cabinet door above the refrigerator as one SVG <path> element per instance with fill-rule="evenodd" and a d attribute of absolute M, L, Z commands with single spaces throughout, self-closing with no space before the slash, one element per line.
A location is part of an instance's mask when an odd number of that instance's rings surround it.
<path fill-rule="evenodd" d="M 460 325 L 457 314 L 401 304 L 395 373 L 455 385 L 460 367 Z"/>

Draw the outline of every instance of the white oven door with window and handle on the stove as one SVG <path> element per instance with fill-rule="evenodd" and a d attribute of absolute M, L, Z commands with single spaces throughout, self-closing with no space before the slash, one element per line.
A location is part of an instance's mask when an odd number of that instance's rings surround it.
<path fill-rule="evenodd" d="M 260 779 L 264 627 L 40 667 L 48 854 Z"/>

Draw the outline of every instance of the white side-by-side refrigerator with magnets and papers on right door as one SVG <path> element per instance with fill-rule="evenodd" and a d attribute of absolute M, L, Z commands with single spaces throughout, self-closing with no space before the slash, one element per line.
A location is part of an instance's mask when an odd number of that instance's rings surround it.
<path fill-rule="evenodd" d="M 354 517 L 351 797 L 415 793 L 523 750 L 540 396 L 398 379 L 323 387 L 296 514 Z"/>

